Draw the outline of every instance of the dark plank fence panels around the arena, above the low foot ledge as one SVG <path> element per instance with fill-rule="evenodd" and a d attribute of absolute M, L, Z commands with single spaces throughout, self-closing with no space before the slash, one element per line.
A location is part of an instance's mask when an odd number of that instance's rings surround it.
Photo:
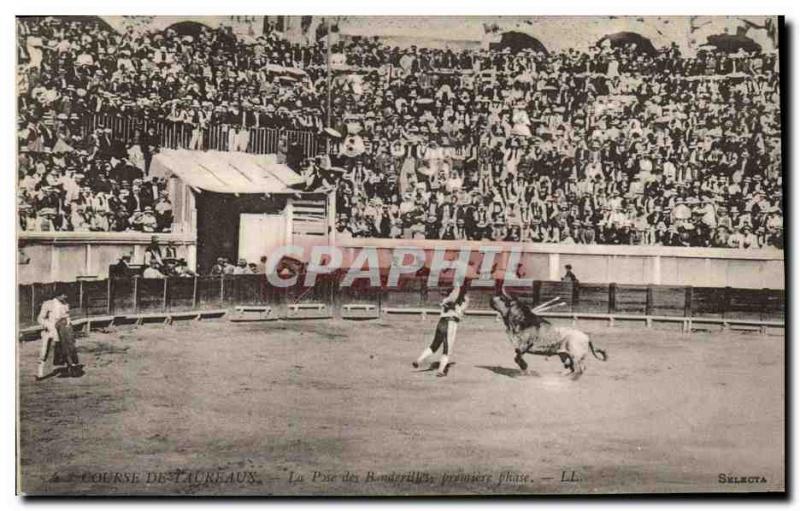
<path fill-rule="evenodd" d="M 429 287 L 426 279 L 400 281 L 398 287 L 373 288 L 357 280 L 341 287 L 333 275 L 318 275 L 312 287 L 280 288 L 265 275 L 144 279 L 105 279 L 54 282 L 19 286 L 18 311 L 21 326 L 36 322 L 42 302 L 64 293 L 73 317 L 125 313 L 177 312 L 219 309 L 234 305 L 284 306 L 288 303 L 319 302 L 333 306 L 372 303 L 379 308 L 436 309 L 449 291 Z M 361 285 L 359 285 L 361 284 Z M 735 289 L 692 286 L 573 284 L 534 281 L 532 286 L 508 288 L 508 292 L 530 305 L 559 296 L 566 303 L 553 312 L 604 313 L 631 316 L 783 320 L 785 294 L 776 289 Z M 492 288 L 470 291 L 473 310 L 489 310 Z"/>

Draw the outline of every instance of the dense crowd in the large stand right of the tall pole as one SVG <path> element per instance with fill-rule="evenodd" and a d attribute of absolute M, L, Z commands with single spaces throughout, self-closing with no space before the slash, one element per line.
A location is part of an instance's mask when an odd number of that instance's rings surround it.
<path fill-rule="evenodd" d="M 339 82 L 343 176 L 324 158 L 306 175 L 337 185 L 341 232 L 782 248 L 773 57 L 462 56 L 412 49 L 401 77 Z"/>

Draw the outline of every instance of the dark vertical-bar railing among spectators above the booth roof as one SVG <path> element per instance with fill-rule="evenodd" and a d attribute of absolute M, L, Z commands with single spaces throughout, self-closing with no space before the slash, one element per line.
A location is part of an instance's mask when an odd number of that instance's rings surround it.
<path fill-rule="evenodd" d="M 186 123 L 167 121 L 164 119 L 136 119 L 129 116 L 109 113 L 97 113 L 87 116 L 83 122 L 83 135 L 91 135 L 97 126 L 104 126 L 111 130 L 111 138 L 130 144 L 138 132 L 144 134 L 149 128 L 154 128 L 159 137 L 159 146 L 167 149 L 188 149 L 192 142 L 192 127 Z M 231 151 L 228 127 L 224 125 L 209 126 L 204 130 L 200 149 L 215 151 Z M 271 154 L 278 151 L 278 141 L 281 134 L 287 136 L 289 143 L 298 143 L 303 148 L 306 157 L 316 156 L 319 151 L 319 142 L 315 133 L 311 131 L 284 130 L 278 128 L 250 128 L 249 140 L 245 152 L 253 154 Z"/>

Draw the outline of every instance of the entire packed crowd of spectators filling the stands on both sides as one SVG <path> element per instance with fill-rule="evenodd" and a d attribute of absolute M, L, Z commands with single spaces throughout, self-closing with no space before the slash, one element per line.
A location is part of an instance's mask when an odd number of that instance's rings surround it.
<path fill-rule="evenodd" d="M 307 189 L 336 190 L 343 235 L 783 247 L 772 54 L 360 38 L 333 48 L 328 94 L 324 42 L 277 32 L 118 34 L 49 18 L 21 23 L 19 46 L 23 229 L 170 228 L 148 175 L 158 136 L 82 129 L 103 113 L 183 123 L 192 149 L 210 126 L 230 150 L 248 150 L 254 128 L 319 135 L 326 154 L 287 161 L 285 139 L 277 151 Z"/>

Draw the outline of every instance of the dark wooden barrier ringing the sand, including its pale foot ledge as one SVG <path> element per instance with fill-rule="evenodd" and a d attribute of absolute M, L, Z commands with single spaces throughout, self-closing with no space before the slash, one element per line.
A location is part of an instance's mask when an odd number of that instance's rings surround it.
<path fill-rule="evenodd" d="M 305 305 L 306 319 L 341 317 L 375 319 L 380 314 L 437 314 L 441 299 L 450 291 L 447 285 L 428 285 L 426 276 L 409 275 L 397 285 L 383 282 L 368 287 L 368 280 L 345 285 L 343 274 L 316 275 L 306 286 L 308 274 L 296 274 L 297 282 L 275 286 L 265 275 L 220 275 L 194 278 L 80 280 L 18 286 L 18 319 L 26 338 L 35 338 L 34 325 L 42 303 L 65 294 L 73 319 L 86 318 L 96 324 L 170 322 L 180 319 L 220 317 L 231 312 L 236 317 L 240 306 L 268 306 L 272 319 L 298 319 L 293 306 Z M 653 321 L 691 331 L 691 320 L 698 324 L 725 323 L 749 327 L 781 327 L 785 318 L 785 292 L 780 289 L 737 289 L 732 287 L 591 284 L 535 280 L 527 285 L 506 286 L 507 292 L 529 305 L 558 299 L 549 317 L 588 321 L 634 321 L 652 326 Z M 468 314 L 492 315 L 490 301 L 494 286 L 475 285 L 470 291 Z M 370 309 L 364 306 L 371 306 Z M 258 312 L 253 310 L 252 312 Z M 261 312 L 264 312 L 262 308 Z M 140 315 L 144 316 L 140 316 Z M 306 314 L 306 312 L 303 312 Z M 357 312 L 356 312 L 357 314 Z M 771 322 L 766 325 L 759 322 Z M 776 323 L 777 322 L 777 323 Z M 31 328 L 29 328 L 31 327 Z M 782 328 L 782 327 L 781 327 Z M 762 333 L 764 331 L 762 330 Z M 30 335 L 29 335 L 30 334 Z M 33 337 L 30 337 L 33 336 Z"/>

